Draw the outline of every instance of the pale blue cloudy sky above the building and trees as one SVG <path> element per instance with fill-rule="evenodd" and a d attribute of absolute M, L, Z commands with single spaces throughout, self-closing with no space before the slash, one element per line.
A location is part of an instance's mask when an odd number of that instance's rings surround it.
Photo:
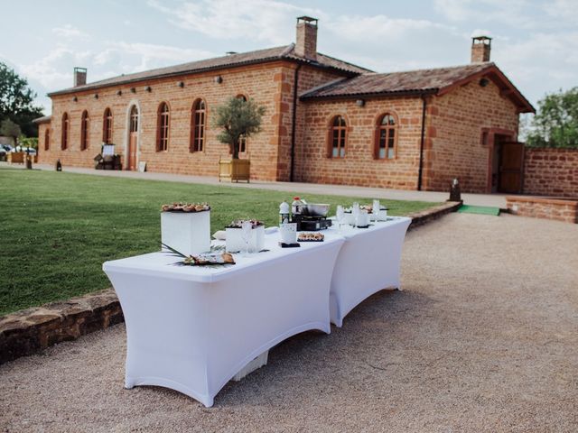
<path fill-rule="evenodd" d="M 318 50 L 380 72 L 466 64 L 471 35 L 536 104 L 578 85 L 578 0 L 0 0 L 0 60 L 38 103 L 89 81 L 294 41 L 295 17 L 320 19 Z"/>

